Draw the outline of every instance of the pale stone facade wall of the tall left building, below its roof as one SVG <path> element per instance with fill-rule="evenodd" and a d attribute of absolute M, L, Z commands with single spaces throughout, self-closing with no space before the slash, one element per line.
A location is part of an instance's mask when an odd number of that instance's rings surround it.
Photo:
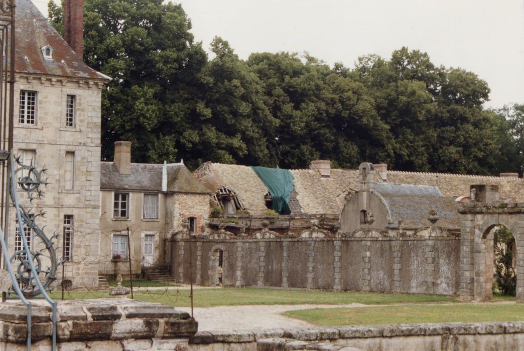
<path fill-rule="evenodd" d="M 63 233 L 64 215 L 74 216 L 72 259 L 64 265 L 65 279 L 73 287 L 97 286 L 100 217 L 100 131 L 102 81 L 78 78 L 17 74 L 15 84 L 14 153 L 36 150 L 37 169 L 49 184 L 42 187 L 45 196 L 29 202 L 21 190 L 18 198 L 32 213 L 45 211 L 38 224 L 46 226 L 48 237 Z M 20 90 L 37 92 L 36 123 L 18 123 Z M 75 124 L 65 126 L 67 95 L 74 95 Z M 65 187 L 65 152 L 74 152 L 74 186 Z M 10 233 L 15 231 L 15 212 L 10 211 Z M 56 247 L 62 247 L 62 235 Z M 9 237 L 9 250 L 14 251 L 14 235 Z M 34 240 L 38 251 L 40 240 Z M 60 260 L 62 252 L 57 257 Z M 46 266 L 44 260 L 43 266 Z M 57 277 L 61 279 L 61 271 Z"/>

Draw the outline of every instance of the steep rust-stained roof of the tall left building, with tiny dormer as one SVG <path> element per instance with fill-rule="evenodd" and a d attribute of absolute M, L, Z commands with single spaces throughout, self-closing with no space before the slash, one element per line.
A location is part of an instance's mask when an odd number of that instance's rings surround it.
<path fill-rule="evenodd" d="M 110 79 L 85 64 L 30 0 L 16 1 L 15 27 L 16 72 Z M 41 49 L 48 45 L 53 49 L 52 59 L 45 59 L 42 55 Z"/>

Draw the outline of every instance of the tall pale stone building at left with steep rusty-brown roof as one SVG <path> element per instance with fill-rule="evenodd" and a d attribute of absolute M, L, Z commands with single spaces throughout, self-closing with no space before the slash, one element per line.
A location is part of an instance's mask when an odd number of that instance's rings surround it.
<path fill-rule="evenodd" d="M 77 24 L 66 23 L 66 31 L 78 32 Z M 81 38 L 74 48 L 30 0 L 16 1 L 14 153 L 24 164 L 45 167 L 49 182 L 41 199 L 29 203 L 21 190 L 18 197 L 32 213 L 46 212 L 36 221 L 47 236 L 65 237 L 56 244 L 58 259 L 66 261 L 65 284 L 91 287 L 98 276 L 101 90 L 108 77 L 82 61 Z M 39 240 L 29 228 L 27 234 L 38 251 Z M 11 236 L 10 252 L 20 248 L 19 237 Z"/>

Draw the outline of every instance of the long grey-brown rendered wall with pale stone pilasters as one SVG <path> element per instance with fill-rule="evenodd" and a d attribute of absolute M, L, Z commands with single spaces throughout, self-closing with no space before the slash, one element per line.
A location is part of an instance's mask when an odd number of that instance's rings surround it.
<path fill-rule="evenodd" d="M 459 293 L 460 239 L 182 238 L 170 245 L 178 282 L 376 292 Z"/>

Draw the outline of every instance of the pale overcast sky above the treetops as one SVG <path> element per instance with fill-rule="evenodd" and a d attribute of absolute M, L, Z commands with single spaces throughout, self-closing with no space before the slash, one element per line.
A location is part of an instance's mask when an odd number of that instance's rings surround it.
<path fill-rule="evenodd" d="M 47 13 L 46 0 L 32 0 Z M 407 46 L 435 65 L 487 81 L 486 107 L 524 104 L 524 0 L 178 0 L 196 41 L 220 36 L 241 59 L 252 52 L 309 52 L 353 67 Z"/>

